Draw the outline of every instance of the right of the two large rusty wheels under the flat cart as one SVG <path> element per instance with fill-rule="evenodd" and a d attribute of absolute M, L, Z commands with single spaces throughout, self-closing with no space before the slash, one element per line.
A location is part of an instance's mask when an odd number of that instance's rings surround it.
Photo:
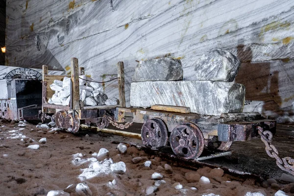
<path fill-rule="evenodd" d="M 184 159 L 199 157 L 204 148 L 202 132 L 189 122 L 181 123 L 172 130 L 170 143 L 173 153 Z"/>

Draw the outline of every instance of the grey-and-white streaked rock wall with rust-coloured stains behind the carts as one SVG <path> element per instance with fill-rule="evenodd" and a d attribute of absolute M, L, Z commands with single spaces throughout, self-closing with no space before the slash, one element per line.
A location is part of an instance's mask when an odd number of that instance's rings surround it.
<path fill-rule="evenodd" d="M 126 101 L 138 61 L 180 59 L 184 80 L 205 51 L 225 49 L 242 62 L 244 111 L 294 121 L 292 0 L 7 0 L 5 65 L 70 72 L 76 57 L 96 80 L 125 66 Z M 103 83 L 118 97 L 117 82 Z M 193 89 L 191 89 L 193 90 Z"/>

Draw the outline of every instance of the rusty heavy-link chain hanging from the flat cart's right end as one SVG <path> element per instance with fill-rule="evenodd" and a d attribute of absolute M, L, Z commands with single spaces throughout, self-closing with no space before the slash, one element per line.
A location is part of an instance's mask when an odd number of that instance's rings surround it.
<path fill-rule="evenodd" d="M 260 135 L 260 139 L 266 145 L 266 152 L 271 158 L 276 159 L 277 166 L 286 172 L 294 175 L 294 159 L 291 157 L 280 158 L 279 152 L 276 147 L 274 147 L 272 142 L 272 133 L 270 131 L 264 131 L 262 127 L 258 126 L 258 134 Z"/>

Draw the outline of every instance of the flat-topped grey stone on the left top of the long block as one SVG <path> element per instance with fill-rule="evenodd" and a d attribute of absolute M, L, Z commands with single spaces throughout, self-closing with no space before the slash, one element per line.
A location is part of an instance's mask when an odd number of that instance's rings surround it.
<path fill-rule="evenodd" d="M 140 61 L 133 76 L 134 82 L 182 79 L 183 69 L 181 61 L 167 57 Z"/>

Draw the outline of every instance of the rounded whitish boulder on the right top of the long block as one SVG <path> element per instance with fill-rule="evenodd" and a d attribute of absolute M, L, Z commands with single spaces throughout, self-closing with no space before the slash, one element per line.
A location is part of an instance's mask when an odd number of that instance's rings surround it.
<path fill-rule="evenodd" d="M 240 67 L 239 59 L 232 53 L 211 49 L 195 62 L 195 80 L 234 81 Z"/>

